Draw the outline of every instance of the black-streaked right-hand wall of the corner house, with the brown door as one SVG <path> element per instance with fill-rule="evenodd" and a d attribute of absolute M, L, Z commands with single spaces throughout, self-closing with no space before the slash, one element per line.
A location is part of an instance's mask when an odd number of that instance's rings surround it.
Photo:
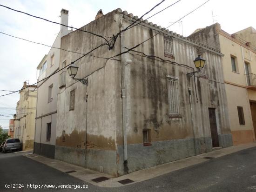
<path fill-rule="evenodd" d="M 123 20 L 124 28 L 130 24 Z M 147 40 L 159 31 L 154 26 L 135 26 L 124 32 L 124 46 L 133 47 Z M 175 59 L 164 55 L 163 39 L 170 34 L 158 34 L 136 51 L 146 55 L 155 55 L 164 60 L 175 61 L 178 64 L 194 68 L 196 48 L 192 42 L 172 35 Z M 119 174 L 133 172 L 141 168 L 159 165 L 177 159 L 195 155 L 188 86 L 192 90 L 192 108 L 195 125 L 196 153 L 212 150 L 209 127 L 208 108 L 216 108 L 217 127 L 220 146 L 232 145 L 227 110 L 221 54 L 213 53 L 201 47 L 203 58 L 207 60 L 208 79 L 195 78 L 195 86 L 199 102 L 195 99 L 194 79 L 187 81 L 186 73 L 192 72 L 186 67 L 177 66 L 171 62 L 159 59 L 141 57 L 142 53 L 126 54 L 125 59 L 132 60 L 126 66 L 127 86 L 127 143 L 128 164 L 126 167 L 119 162 Z M 157 60 L 158 59 L 158 60 Z M 180 105 L 182 118 L 170 118 L 168 114 L 167 76 L 179 80 Z M 150 130 L 150 146 L 143 146 L 142 130 Z M 121 135 L 120 135 L 121 136 Z M 118 142 L 118 155 L 123 158 L 122 141 Z M 122 158 L 121 158 L 122 157 Z"/>

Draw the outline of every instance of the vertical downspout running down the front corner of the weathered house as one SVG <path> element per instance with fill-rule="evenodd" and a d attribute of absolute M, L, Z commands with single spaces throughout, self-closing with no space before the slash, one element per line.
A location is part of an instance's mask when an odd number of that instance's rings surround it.
<path fill-rule="evenodd" d="M 122 18 L 120 19 L 120 31 L 123 30 Z M 124 52 L 123 33 L 121 38 L 121 53 Z M 126 95 L 125 95 L 125 63 L 124 56 L 121 54 L 121 86 L 122 86 L 122 120 L 123 120 L 123 149 L 124 149 L 124 165 L 127 165 L 127 134 L 126 134 Z"/>

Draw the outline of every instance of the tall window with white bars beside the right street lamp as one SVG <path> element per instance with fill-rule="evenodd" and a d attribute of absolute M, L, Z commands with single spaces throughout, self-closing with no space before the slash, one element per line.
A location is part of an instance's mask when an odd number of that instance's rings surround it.
<path fill-rule="evenodd" d="M 178 79 L 168 76 L 167 88 L 168 88 L 169 116 L 172 118 L 181 118 Z"/>

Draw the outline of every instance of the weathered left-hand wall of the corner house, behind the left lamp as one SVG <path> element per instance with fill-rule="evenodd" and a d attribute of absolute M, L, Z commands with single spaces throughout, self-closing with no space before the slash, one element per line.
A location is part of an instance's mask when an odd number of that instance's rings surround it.
<path fill-rule="evenodd" d="M 112 12 L 81 29 L 111 36 L 119 31 L 117 20 L 118 15 Z M 101 38 L 77 30 L 62 38 L 61 48 L 87 53 L 102 43 Z M 91 55 L 113 56 L 120 53 L 118 45 L 117 41 L 110 51 L 108 46 L 102 46 Z M 68 65 L 79 57 L 81 54 L 61 51 L 60 60 L 66 60 Z M 76 78 L 88 78 L 88 86 L 70 78 L 66 71 L 66 86 L 59 89 L 58 94 L 55 159 L 97 171 L 103 168 L 103 172 L 116 175 L 116 130 L 120 129 L 117 117 L 121 113 L 120 62 L 85 56 L 75 64 L 79 67 Z M 74 110 L 69 110 L 72 90 Z"/>

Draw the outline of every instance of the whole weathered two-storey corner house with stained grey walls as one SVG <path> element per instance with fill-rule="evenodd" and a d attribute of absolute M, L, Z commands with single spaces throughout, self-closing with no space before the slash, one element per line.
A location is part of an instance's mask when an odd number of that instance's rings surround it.
<path fill-rule="evenodd" d="M 137 18 L 119 8 L 81 29 L 109 37 Z M 145 20 L 119 36 L 114 49 L 102 46 L 91 53 L 95 57 L 75 62 L 76 78 L 88 79 L 88 86 L 63 70 L 55 159 L 118 176 L 232 146 L 222 53 L 164 30 L 135 51 L 102 59 L 161 30 Z M 87 53 L 103 42 L 76 30 L 61 38 L 61 48 Z M 198 54 L 207 66 L 194 82 L 187 73 L 195 69 Z M 61 50 L 60 67 L 79 57 Z"/>

